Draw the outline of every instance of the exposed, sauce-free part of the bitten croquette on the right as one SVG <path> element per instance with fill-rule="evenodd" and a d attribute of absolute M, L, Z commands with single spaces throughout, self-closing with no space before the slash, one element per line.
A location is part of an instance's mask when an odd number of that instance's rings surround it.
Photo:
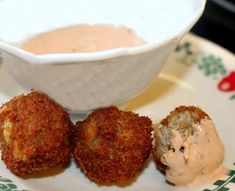
<path fill-rule="evenodd" d="M 155 147 L 153 148 L 154 160 L 161 171 L 167 167 L 162 163 L 164 153 L 173 150 L 171 139 L 175 135 L 173 131 L 178 131 L 184 140 L 194 134 L 194 123 L 199 123 L 202 119 L 210 117 L 201 109 L 194 106 L 179 106 L 170 114 L 161 120 L 154 128 Z"/>

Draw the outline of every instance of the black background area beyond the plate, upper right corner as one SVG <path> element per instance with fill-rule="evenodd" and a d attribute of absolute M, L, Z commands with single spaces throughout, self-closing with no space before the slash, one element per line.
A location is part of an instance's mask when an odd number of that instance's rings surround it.
<path fill-rule="evenodd" d="M 191 32 L 235 53 L 235 0 L 207 0 Z"/>

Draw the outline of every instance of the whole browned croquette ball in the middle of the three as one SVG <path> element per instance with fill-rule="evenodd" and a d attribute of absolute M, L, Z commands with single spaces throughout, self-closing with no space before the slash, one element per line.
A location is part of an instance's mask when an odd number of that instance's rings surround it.
<path fill-rule="evenodd" d="M 76 124 L 75 159 L 98 184 L 128 184 L 149 157 L 152 131 L 148 117 L 116 107 L 98 109 Z"/>

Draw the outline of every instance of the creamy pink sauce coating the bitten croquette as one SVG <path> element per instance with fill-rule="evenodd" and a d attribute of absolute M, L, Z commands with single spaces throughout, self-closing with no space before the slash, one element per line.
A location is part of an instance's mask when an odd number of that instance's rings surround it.
<path fill-rule="evenodd" d="M 228 169 L 222 166 L 224 146 L 211 119 L 193 124 L 195 132 L 184 140 L 178 131 L 172 131 L 170 140 L 175 152 L 163 155 L 166 179 L 176 186 L 200 186 L 225 176 Z M 180 151 L 183 145 L 184 152 Z"/>

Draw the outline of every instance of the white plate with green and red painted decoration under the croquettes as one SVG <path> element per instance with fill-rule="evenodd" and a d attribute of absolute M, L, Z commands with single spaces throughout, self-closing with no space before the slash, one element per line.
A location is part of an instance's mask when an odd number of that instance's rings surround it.
<path fill-rule="evenodd" d="M 224 165 L 228 176 L 197 188 L 175 187 L 165 182 L 153 161 L 138 179 L 127 187 L 97 186 L 72 162 L 69 168 L 50 176 L 21 179 L 0 161 L 0 191 L 74 191 L 74 190 L 235 190 L 235 56 L 217 45 L 187 35 L 169 57 L 161 74 L 124 108 L 151 117 L 154 123 L 179 105 L 196 105 L 214 120 L 225 146 Z M 223 80 L 223 86 L 218 84 Z M 0 69 L 0 103 L 22 93 Z M 73 119 L 76 120 L 73 116 Z"/>

